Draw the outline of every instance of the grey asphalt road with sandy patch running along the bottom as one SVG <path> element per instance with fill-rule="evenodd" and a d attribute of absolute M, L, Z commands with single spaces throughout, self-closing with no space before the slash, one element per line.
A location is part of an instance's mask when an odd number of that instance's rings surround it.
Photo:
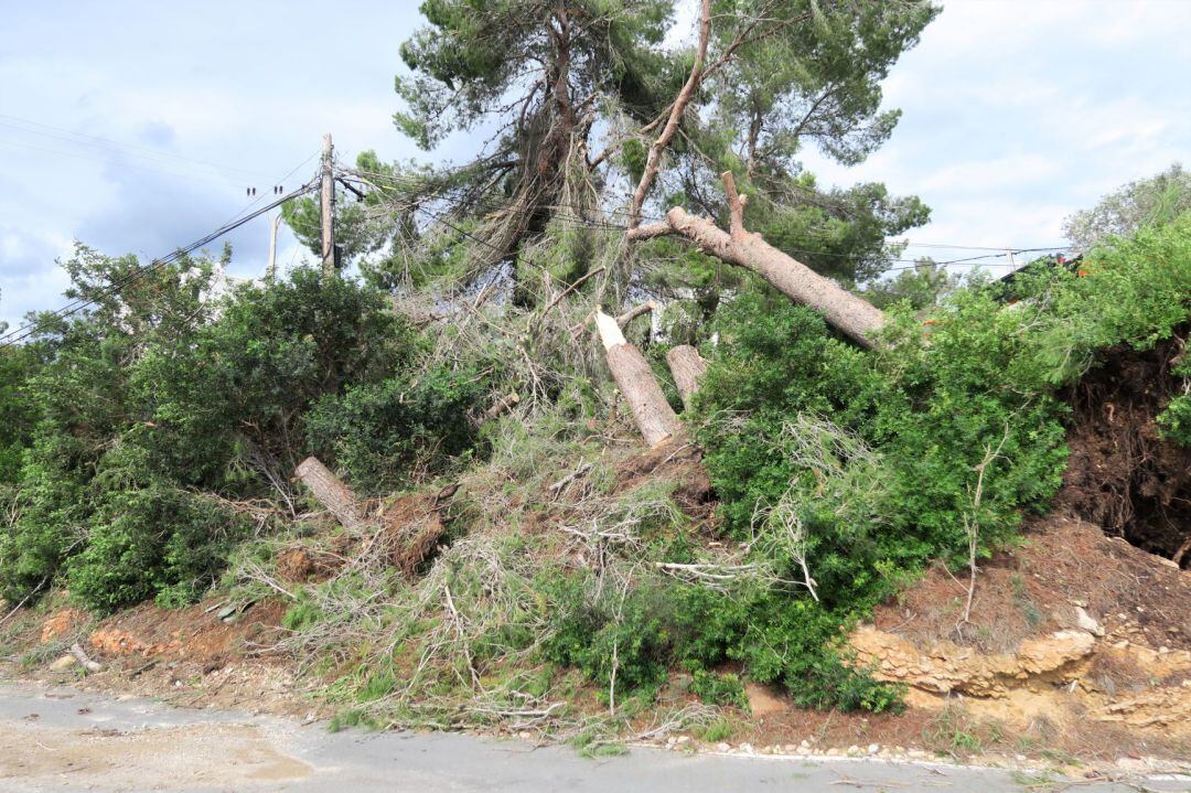
<path fill-rule="evenodd" d="M 634 748 L 585 760 L 566 747 L 413 732 L 328 732 L 245 713 L 0 681 L 0 791 L 1061 791 L 984 768 L 879 760 L 686 755 Z M 1078 782 L 1089 793 L 1191 791 L 1189 779 Z"/>

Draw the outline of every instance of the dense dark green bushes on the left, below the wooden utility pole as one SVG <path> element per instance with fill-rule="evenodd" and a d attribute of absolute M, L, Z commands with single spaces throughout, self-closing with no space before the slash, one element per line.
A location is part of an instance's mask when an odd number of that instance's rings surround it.
<path fill-rule="evenodd" d="M 64 576 L 95 608 L 185 602 L 245 536 L 229 505 L 288 491 L 306 454 L 395 487 L 474 443 L 480 380 L 422 371 L 423 341 L 375 289 L 299 269 L 205 300 L 212 263 L 182 260 L 108 295 L 136 266 L 80 248 L 71 296 L 94 308 L 44 318 L 27 350 L 39 363 L 19 388 L 36 424 L 0 438 L 2 466 L 23 447 L 5 474 L 4 597 Z"/>

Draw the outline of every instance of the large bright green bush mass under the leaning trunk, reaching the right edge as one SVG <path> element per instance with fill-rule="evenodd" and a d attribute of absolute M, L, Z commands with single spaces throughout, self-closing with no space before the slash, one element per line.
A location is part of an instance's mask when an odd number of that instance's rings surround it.
<path fill-rule="evenodd" d="M 721 307 L 696 435 L 725 531 L 784 583 L 699 592 L 676 612 L 698 619 L 671 629 L 675 647 L 709 666 L 737 660 L 804 705 L 896 706 L 896 691 L 834 649 L 841 626 L 928 560 L 964 561 L 969 542 L 987 556 L 1023 511 L 1046 508 L 1066 457 L 1055 389 L 1097 350 L 1145 349 L 1186 321 L 1189 232 L 1191 216 L 1114 241 L 1083 276 L 1035 268 L 1008 289 L 974 283 L 925 324 L 903 302 L 875 352 L 765 292 Z M 1162 418 L 1174 435 L 1180 399 Z"/>

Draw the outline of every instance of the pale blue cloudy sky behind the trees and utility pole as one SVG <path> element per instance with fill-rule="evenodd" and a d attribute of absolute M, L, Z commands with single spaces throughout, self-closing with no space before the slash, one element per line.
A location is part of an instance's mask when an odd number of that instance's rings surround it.
<path fill-rule="evenodd" d="M 243 211 L 247 187 L 308 179 L 323 132 L 344 160 L 423 156 L 391 121 L 417 5 L 5 2 L 0 321 L 60 305 L 73 239 L 167 254 Z M 921 195 L 934 213 L 915 244 L 1059 245 L 1072 211 L 1191 162 L 1189 37 L 1191 0 L 948 0 L 890 76 L 888 144 L 850 169 L 807 162 Z M 233 274 L 263 270 L 267 229 L 232 235 Z M 964 250 L 910 250 L 928 252 Z M 303 256 L 282 241 L 282 268 Z"/>

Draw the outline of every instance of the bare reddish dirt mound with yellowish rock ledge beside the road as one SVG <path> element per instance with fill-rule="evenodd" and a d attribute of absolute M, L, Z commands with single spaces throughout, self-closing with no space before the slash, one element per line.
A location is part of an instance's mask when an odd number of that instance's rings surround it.
<path fill-rule="evenodd" d="M 937 566 L 850 636 L 858 661 L 915 710 L 959 697 L 971 718 L 1080 747 L 1191 738 L 1191 574 L 1064 516 L 1024 533 L 980 566 L 969 622 L 966 580 Z"/>

